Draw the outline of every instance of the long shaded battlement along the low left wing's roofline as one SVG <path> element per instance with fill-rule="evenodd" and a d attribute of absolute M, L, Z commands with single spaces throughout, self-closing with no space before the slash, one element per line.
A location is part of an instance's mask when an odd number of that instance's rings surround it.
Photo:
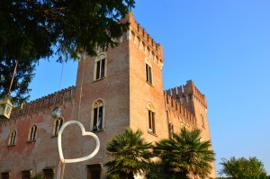
<path fill-rule="evenodd" d="M 42 98 L 39 98 L 35 101 L 32 101 L 30 103 L 23 104 L 23 109 L 21 108 L 15 108 L 11 114 L 10 120 L 14 120 L 18 117 L 21 117 L 23 115 L 30 114 L 32 112 L 37 112 L 42 109 L 48 108 L 50 106 L 56 105 L 58 103 L 64 103 L 66 101 L 69 101 L 73 99 L 75 86 L 70 86 L 68 88 L 62 89 L 61 91 L 58 91 L 54 94 L 49 94 L 47 96 L 44 96 Z M 9 121 L 9 120 L 4 120 Z M 0 121 L 0 123 L 3 121 Z"/>

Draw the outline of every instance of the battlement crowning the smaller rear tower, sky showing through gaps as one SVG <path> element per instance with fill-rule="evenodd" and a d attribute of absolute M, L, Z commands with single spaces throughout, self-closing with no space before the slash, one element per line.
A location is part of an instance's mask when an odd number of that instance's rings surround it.
<path fill-rule="evenodd" d="M 166 94 L 173 96 L 180 101 L 198 101 L 207 109 L 206 97 L 200 92 L 200 90 L 194 85 L 192 80 L 188 80 L 186 85 L 180 85 L 175 88 L 166 90 Z"/>

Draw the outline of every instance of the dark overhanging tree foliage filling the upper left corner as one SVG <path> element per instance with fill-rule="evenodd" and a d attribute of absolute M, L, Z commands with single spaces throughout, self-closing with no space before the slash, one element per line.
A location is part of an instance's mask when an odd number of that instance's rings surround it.
<path fill-rule="evenodd" d="M 134 0 L 1 0 L 0 97 L 8 92 L 16 60 L 15 100 L 29 93 L 40 58 L 56 54 L 62 62 L 77 58 L 78 51 L 94 55 L 97 46 L 117 45 L 113 39 L 129 25 L 120 20 L 134 4 Z"/>

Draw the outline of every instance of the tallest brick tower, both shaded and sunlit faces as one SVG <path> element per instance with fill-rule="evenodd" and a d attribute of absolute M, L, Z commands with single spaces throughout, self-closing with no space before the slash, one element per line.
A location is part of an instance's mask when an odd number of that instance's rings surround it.
<path fill-rule="evenodd" d="M 163 49 L 131 13 L 125 20 L 130 29 L 117 40 L 119 46 L 96 49 L 96 57 L 86 57 L 78 64 L 73 120 L 82 122 L 101 140 L 101 149 L 88 166 L 105 164 L 107 142 L 128 127 L 142 130 L 148 141 L 168 137 Z"/>

